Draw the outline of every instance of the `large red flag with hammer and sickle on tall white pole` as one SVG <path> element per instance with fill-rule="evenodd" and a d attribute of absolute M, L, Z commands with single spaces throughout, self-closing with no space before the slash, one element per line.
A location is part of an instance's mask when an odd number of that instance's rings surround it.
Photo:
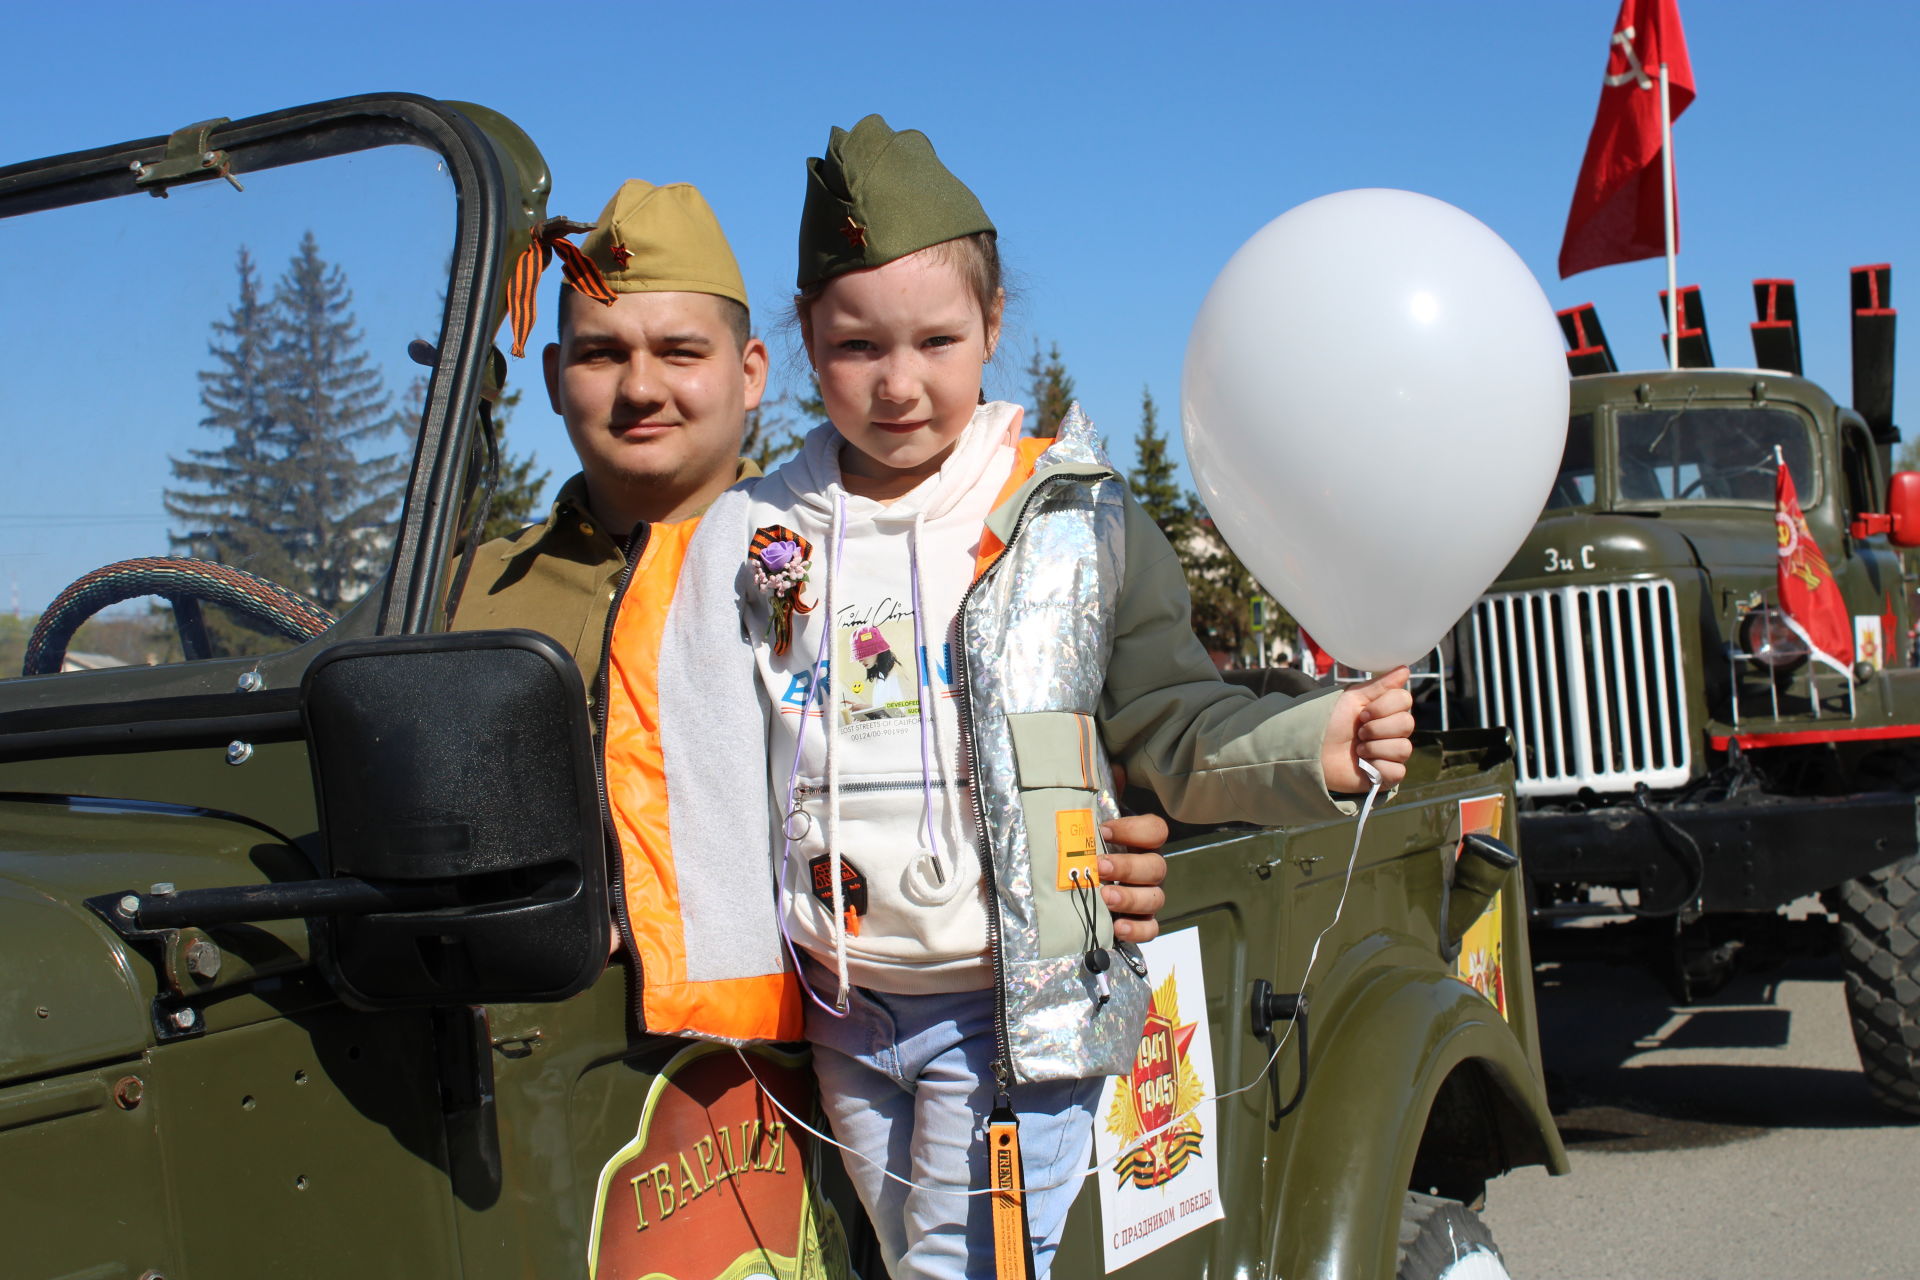
<path fill-rule="evenodd" d="M 1580 161 L 1580 180 L 1567 211 L 1561 278 L 1667 253 L 1667 215 L 1661 209 L 1663 61 L 1674 119 L 1680 119 L 1693 102 L 1693 63 L 1686 56 L 1680 8 L 1674 0 L 1622 0 L 1594 132 L 1586 140 L 1586 159 Z M 1676 215 L 1676 248 L 1678 242 Z"/>

